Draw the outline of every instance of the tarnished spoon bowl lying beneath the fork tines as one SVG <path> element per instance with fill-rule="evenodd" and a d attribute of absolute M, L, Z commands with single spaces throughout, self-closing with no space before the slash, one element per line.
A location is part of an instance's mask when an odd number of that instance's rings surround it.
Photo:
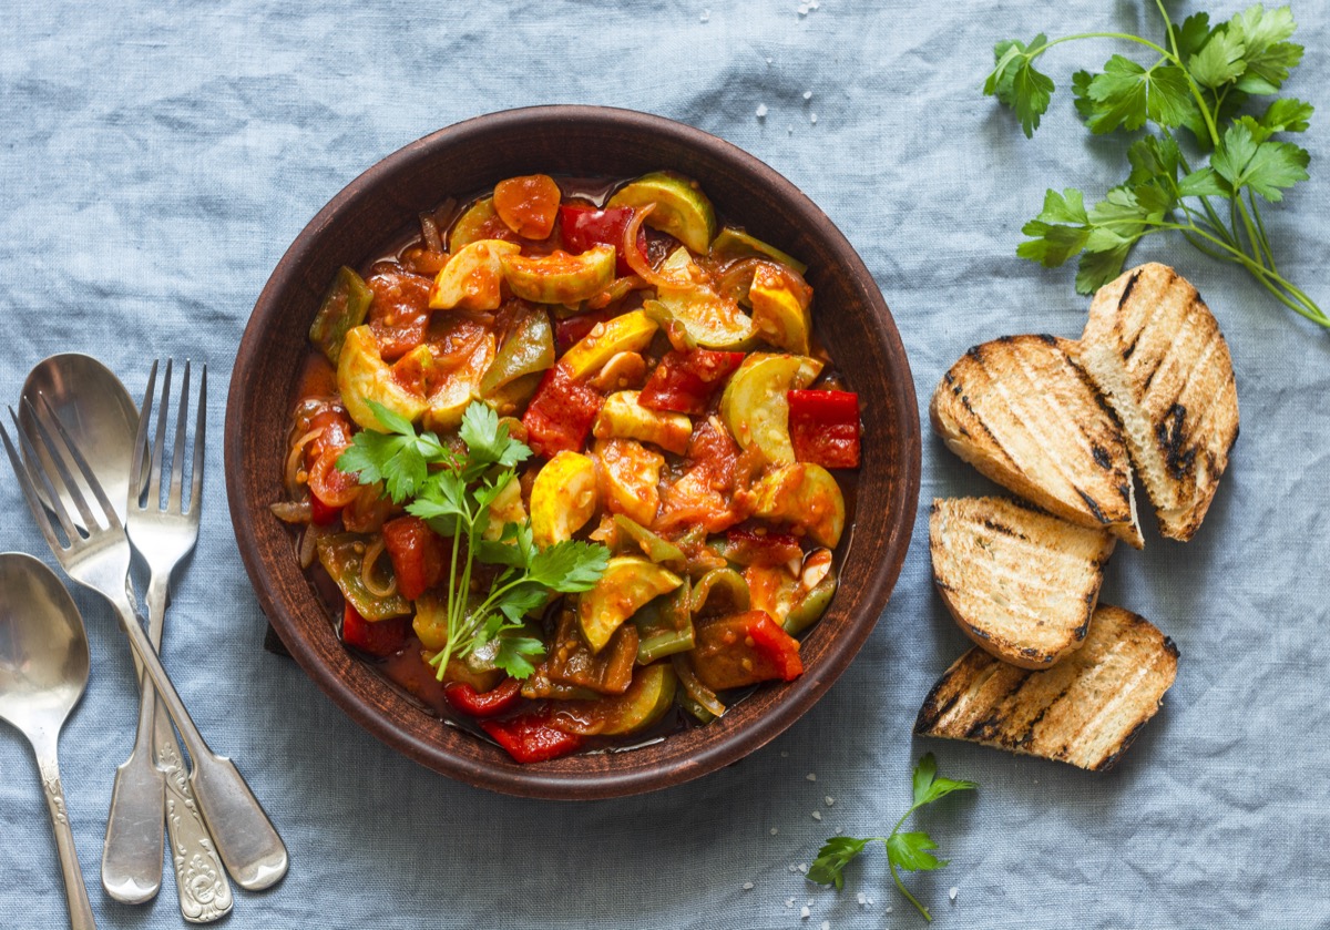
<path fill-rule="evenodd" d="M 134 436 L 138 432 L 138 407 L 120 379 L 105 365 L 90 355 L 65 353 L 52 355 L 33 366 L 23 382 L 23 400 L 19 404 L 19 424 L 29 438 L 35 424 L 28 412 L 37 404 L 37 396 L 47 399 L 60 420 L 69 430 L 78 448 L 97 467 L 97 480 L 110 499 L 116 516 L 125 520 L 129 500 L 129 466 L 133 458 Z M 41 443 L 35 443 L 43 468 L 52 474 L 52 463 Z M 82 488 L 85 492 L 88 488 Z M 43 490 L 37 490 L 43 494 Z M 88 494 L 88 498 L 92 495 Z M 44 504 L 49 502 L 43 499 Z M 65 511 L 76 515 L 77 508 L 65 500 Z"/>

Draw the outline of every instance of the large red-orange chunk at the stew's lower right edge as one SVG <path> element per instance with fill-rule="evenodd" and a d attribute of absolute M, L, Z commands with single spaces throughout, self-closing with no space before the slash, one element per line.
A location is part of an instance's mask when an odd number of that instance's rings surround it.
<path fill-rule="evenodd" d="M 693 669 L 712 691 L 793 681 L 803 673 L 799 641 L 766 611 L 698 621 L 696 640 Z"/>

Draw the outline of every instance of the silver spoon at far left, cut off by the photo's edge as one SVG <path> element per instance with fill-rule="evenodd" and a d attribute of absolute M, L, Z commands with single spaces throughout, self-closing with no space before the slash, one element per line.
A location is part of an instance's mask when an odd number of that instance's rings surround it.
<path fill-rule="evenodd" d="M 44 563 L 23 552 L 0 553 L 0 718 L 27 736 L 37 756 L 73 930 L 96 925 L 69 829 L 56 744 L 86 685 L 88 635 L 73 597 Z"/>

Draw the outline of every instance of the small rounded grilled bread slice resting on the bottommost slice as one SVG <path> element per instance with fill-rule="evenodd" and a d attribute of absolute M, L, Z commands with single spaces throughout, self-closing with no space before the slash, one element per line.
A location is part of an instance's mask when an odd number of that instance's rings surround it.
<path fill-rule="evenodd" d="M 1117 540 L 1005 498 L 934 500 L 932 580 L 980 649 L 1048 668 L 1079 649 Z"/>

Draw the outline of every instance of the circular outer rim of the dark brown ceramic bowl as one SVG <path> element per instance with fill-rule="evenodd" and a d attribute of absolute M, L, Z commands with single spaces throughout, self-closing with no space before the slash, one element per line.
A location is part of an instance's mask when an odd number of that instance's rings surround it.
<path fill-rule="evenodd" d="M 859 593 L 859 605 L 855 613 L 863 616 L 853 616 L 847 620 L 843 633 L 821 657 L 815 675 L 806 672 L 795 681 L 789 683 L 787 692 L 771 712 L 749 721 L 746 726 L 725 738 L 708 742 L 700 752 L 686 758 L 660 764 L 650 769 L 609 769 L 580 776 L 567 772 L 545 772 L 539 765 L 499 766 L 483 758 L 462 757 L 446 752 L 442 746 L 392 725 L 376 705 L 346 687 L 346 680 L 322 661 L 310 643 L 297 635 L 295 623 L 269 589 L 271 583 L 266 576 L 265 563 L 259 557 L 261 547 L 257 538 L 258 512 L 262 510 L 266 515 L 266 508 L 250 507 L 246 502 L 243 467 L 246 430 L 241 428 L 246 386 L 251 381 L 253 366 L 259 357 L 258 343 L 283 311 L 275 295 L 286 287 L 289 279 L 299 275 L 299 269 L 317 250 L 321 234 L 336 214 L 348 209 L 354 210 L 355 205 L 362 198 L 370 197 L 368 192 L 376 190 L 380 182 L 399 172 L 407 172 L 418 160 L 428 158 L 439 146 L 467 144 L 495 130 L 512 130 L 543 124 L 557 125 L 571 121 L 613 124 L 616 128 L 626 125 L 649 136 L 664 136 L 688 148 L 700 149 L 709 158 L 730 162 L 739 172 L 755 174 L 763 186 L 789 202 L 799 204 L 805 212 L 813 216 L 818 226 L 817 235 L 827 239 L 833 250 L 843 254 L 846 266 L 839 269 L 839 273 L 850 275 L 855 290 L 874 317 L 868 329 L 880 343 L 879 349 L 883 357 L 895 370 L 896 377 L 880 387 L 884 388 L 886 394 L 894 395 L 892 403 L 900 411 L 902 434 L 898 459 L 903 472 L 903 480 L 898 482 L 895 498 L 884 502 L 891 512 L 899 515 L 899 519 L 891 524 L 891 532 L 883 543 L 878 571 L 871 573 L 866 588 Z M 846 671 L 886 609 L 914 532 L 922 470 L 920 427 L 916 411 L 914 379 L 904 346 L 872 274 L 835 224 L 793 182 L 737 145 L 666 117 L 595 105 L 527 106 L 472 117 L 435 130 L 398 149 L 347 184 L 295 237 L 265 282 L 237 347 L 227 392 L 223 438 L 227 503 L 241 560 L 261 609 L 305 673 L 362 728 L 411 760 L 472 786 L 505 794 L 551 800 L 622 797 L 690 781 L 738 761 L 793 725 Z"/>

